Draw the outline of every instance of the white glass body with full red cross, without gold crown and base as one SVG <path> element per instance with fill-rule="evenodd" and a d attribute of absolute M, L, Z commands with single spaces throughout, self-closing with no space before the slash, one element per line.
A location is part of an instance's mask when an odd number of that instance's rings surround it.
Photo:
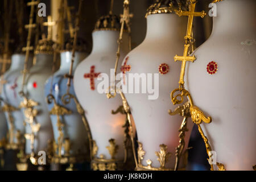
<path fill-rule="evenodd" d="M 110 82 L 110 69 L 114 69 L 119 32 L 98 30 L 94 31 L 92 36 L 92 53 L 79 64 L 75 71 L 75 93 L 85 110 L 85 115 L 92 132 L 92 138 L 98 147 L 95 157 L 100 158 L 100 156 L 104 156 L 105 159 L 111 159 L 107 147 L 110 146 L 109 140 L 114 139 L 115 144 L 118 145 L 117 154 L 114 157 L 115 159 L 123 160 L 124 129 L 122 126 L 125 124 L 125 115 L 120 113 L 112 114 L 112 110 L 117 110 L 122 105 L 122 100 L 119 96 L 108 100 L 105 94 L 108 86 L 102 85 L 102 81 L 105 78 L 107 84 Z M 125 34 L 123 46 L 121 47 L 121 60 L 127 52 L 128 41 L 127 35 Z M 119 65 L 121 65 L 121 61 L 119 61 Z M 119 65 L 118 69 L 120 68 Z M 90 73 L 93 74 L 93 78 L 89 78 L 90 75 L 88 74 Z M 100 75 L 101 78 L 104 77 L 104 80 L 97 80 L 99 73 L 104 73 L 102 76 Z M 100 93 L 100 90 L 103 93 Z"/>

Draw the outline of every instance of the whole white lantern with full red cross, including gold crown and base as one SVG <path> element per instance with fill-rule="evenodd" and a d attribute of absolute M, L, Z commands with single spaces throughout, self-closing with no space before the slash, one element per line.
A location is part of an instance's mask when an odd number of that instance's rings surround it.
<path fill-rule="evenodd" d="M 122 105 L 122 100 L 118 97 L 108 100 L 105 95 L 110 86 L 109 80 L 114 76 L 114 73 L 110 75 L 110 69 L 114 71 L 120 29 L 118 16 L 111 12 L 98 19 L 92 34 L 92 53 L 79 64 L 74 76 L 75 92 L 92 131 L 91 165 L 94 170 L 128 168 L 123 166 L 123 160 L 127 157 L 127 148 L 123 144 L 125 113 L 112 113 L 112 110 L 117 110 Z M 128 35 L 125 34 L 121 59 L 128 50 Z M 120 69 L 120 65 L 118 68 Z M 102 79 L 97 80 L 98 77 L 103 78 L 105 84 Z"/>

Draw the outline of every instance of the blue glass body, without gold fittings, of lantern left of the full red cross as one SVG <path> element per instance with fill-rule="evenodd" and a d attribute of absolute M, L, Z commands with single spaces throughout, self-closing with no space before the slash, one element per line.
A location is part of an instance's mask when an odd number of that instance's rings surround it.
<path fill-rule="evenodd" d="M 62 107 L 65 107 L 69 111 L 72 111 L 71 114 L 61 115 L 61 123 L 64 124 L 62 129 L 64 134 L 64 139 L 69 138 L 71 142 L 71 148 L 69 151 L 70 155 L 85 155 L 88 152 L 88 147 L 86 146 L 86 131 L 84 124 L 81 119 L 81 115 L 77 112 L 75 101 L 72 99 L 71 102 L 67 105 L 64 105 L 61 97 L 67 93 L 67 81 L 68 78 L 64 78 L 65 74 L 69 73 L 69 68 L 71 65 L 72 59 L 72 52 L 71 51 L 64 51 L 61 52 L 61 64 L 60 69 L 54 73 L 53 80 L 52 77 L 49 77 L 46 81 L 46 86 L 44 88 L 45 97 L 50 94 L 50 89 L 52 87 L 52 95 L 55 97 L 56 104 Z M 86 53 L 83 52 L 76 52 L 75 59 L 73 63 L 73 71 L 79 64 L 81 60 L 83 60 L 87 56 Z M 71 87 L 69 90 L 73 96 L 75 96 L 75 91 L 73 89 L 73 82 L 71 82 Z M 48 105 L 48 111 L 51 111 L 53 108 L 54 103 Z M 57 115 L 50 115 L 52 128 L 53 128 L 53 135 L 56 143 L 58 142 L 59 137 L 59 130 L 57 127 Z M 65 141 L 63 140 L 63 143 Z M 88 143 L 87 143 L 88 144 Z M 61 155 L 65 155 L 64 146 L 62 147 Z M 88 155 L 89 156 L 89 155 Z"/>

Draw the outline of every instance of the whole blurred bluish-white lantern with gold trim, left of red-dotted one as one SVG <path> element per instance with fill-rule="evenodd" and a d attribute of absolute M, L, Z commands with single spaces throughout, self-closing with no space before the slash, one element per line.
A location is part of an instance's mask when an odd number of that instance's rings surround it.
<path fill-rule="evenodd" d="M 23 125 L 23 114 L 19 110 L 19 91 L 18 77 L 22 75 L 24 67 L 25 55 L 22 53 L 15 53 L 11 56 L 11 67 L 5 72 L 2 90 L 2 111 L 5 112 L 5 117 L 9 126 L 9 140 L 7 148 L 18 149 L 23 148 L 25 127 Z M 31 67 L 32 60 L 28 62 L 28 68 Z"/>

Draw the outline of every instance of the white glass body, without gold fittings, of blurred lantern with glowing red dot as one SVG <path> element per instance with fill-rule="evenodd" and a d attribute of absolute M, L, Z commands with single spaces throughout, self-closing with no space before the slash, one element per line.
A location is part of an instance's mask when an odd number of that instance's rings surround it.
<path fill-rule="evenodd" d="M 48 141 L 53 138 L 51 119 L 49 117 L 48 106 L 46 103 L 46 98 L 44 96 L 44 84 L 47 78 L 51 75 L 52 70 L 52 60 L 53 55 L 39 53 L 36 55 L 36 64 L 30 69 L 30 72 L 27 74 L 26 85 L 24 86 L 24 93 L 35 102 L 38 102 L 38 106 L 35 106 L 34 109 L 38 110 L 36 115 L 35 122 L 40 123 L 40 129 L 35 134 L 34 142 L 34 152 L 35 154 L 38 151 L 46 151 Z M 22 78 L 18 78 L 18 89 L 22 88 Z M 19 102 L 22 102 L 23 98 Z M 24 114 L 24 108 L 23 114 Z M 24 115 L 24 118 L 25 115 Z M 31 134 L 31 127 L 27 123 L 26 133 Z M 26 140 L 26 154 L 31 154 L 30 148 L 31 141 Z"/>

